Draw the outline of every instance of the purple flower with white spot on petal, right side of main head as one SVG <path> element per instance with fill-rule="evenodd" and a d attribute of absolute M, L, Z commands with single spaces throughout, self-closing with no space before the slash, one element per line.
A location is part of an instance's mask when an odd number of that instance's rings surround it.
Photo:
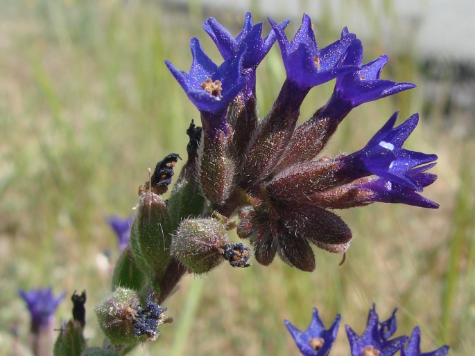
<path fill-rule="evenodd" d="M 353 175 L 354 178 L 372 174 L 399 184 L 401 187 L 422 191 L 424 184 L 428 185 L 430 179 L 427 176 L 420 179 L 419 173 L 431 166 L 423 166 L 417 170 L 413 168 L 431 163 L 437 159 L 437 156 L 402 148 L 404 141 L 417 126 L 418 114 L 414 114 L 401 125 L 394 127 L 396 119 L 397 112 L 370 139 L 363 150 L 343 157 L 342 160 L 347 165 L 343 169 L 345 172 L 350 172 L 349 175 Z"/>

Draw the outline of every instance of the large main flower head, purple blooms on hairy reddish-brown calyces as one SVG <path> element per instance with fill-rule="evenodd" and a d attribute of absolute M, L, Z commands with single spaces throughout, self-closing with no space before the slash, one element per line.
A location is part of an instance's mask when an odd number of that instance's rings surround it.
<path fill-rule="evenodd" d="M 415 85 L 380 78 L 386 55 L 363 64 L 361 41 L 347 28 L 336 42 L 319 48 L 308 15 L 290 40 L 284 33 L 288 21 L 269 22 L 272 30 L 263 39 L 262 24 L 253 25 L 248 13 L 234 38 L 216 19 L 208 19 L 204 28 L 223 55 L 223 64 L 215 64 L 194 38 L 188 73 L 170 62 L 166 65 L 200 111 L 195 177 L 209 211 L 225 217 L 238 214 L 238 234 L 250 241 L 257 262 L 269 265 L 277 254 L 288 265 L 310 272 L 315 268 L 310 244 L 341 253 L 352 240 L 335 209 L 373 202 L 438 208 L 420 195 L 437 178 L 426 172 L 437 156 L 402 147 L 418 115 L 396 125 L 397 113 L 361 150 L 321 156 L 354 107 Z M 275 41 L 286 80 L 261 119 L 255 71 Z M 327 103 L 297 125 L 310 89 L 333 79 L 336 84 Z"/>

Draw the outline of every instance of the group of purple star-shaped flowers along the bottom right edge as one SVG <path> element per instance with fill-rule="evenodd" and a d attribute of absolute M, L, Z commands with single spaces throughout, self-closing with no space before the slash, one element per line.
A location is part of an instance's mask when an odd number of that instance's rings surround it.
<path fill-rule="evenodd" d="M 420 329 L 415 327 L 411 337 L 400 336 L 390 339 L 397 330 L 396 311 L 386 321 L 379 321 L 376 305 L 370 309 L 368 323 L 361 336 L 357 335 L 349 326 L 345 326 L 352 356 L 392 356 L 400 352 L 401 356 L 445 356 L 449 352 L 449 346 L 442 346 L 431 353 L 421 353 Z M 288 321 L 284 321 L 291 333 L 295 344 L 304 356 L 325 356 L 330 353 L 334 344 L 340 324 L 340 315 L 327 330 L 318 316 L 318 311 L 313 309 L 313 317 L 306 330 L 301 331 Z"/>

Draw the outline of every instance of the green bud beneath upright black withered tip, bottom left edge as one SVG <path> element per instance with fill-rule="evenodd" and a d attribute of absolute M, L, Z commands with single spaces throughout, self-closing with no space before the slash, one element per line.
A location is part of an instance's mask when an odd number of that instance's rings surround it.
<path fill-rule="evenodd" d="M 85 348 L 83 327 L 79 321 L 70 319 L 60 329 L 54 345 L 54 355 L 82 355 Z"/>

